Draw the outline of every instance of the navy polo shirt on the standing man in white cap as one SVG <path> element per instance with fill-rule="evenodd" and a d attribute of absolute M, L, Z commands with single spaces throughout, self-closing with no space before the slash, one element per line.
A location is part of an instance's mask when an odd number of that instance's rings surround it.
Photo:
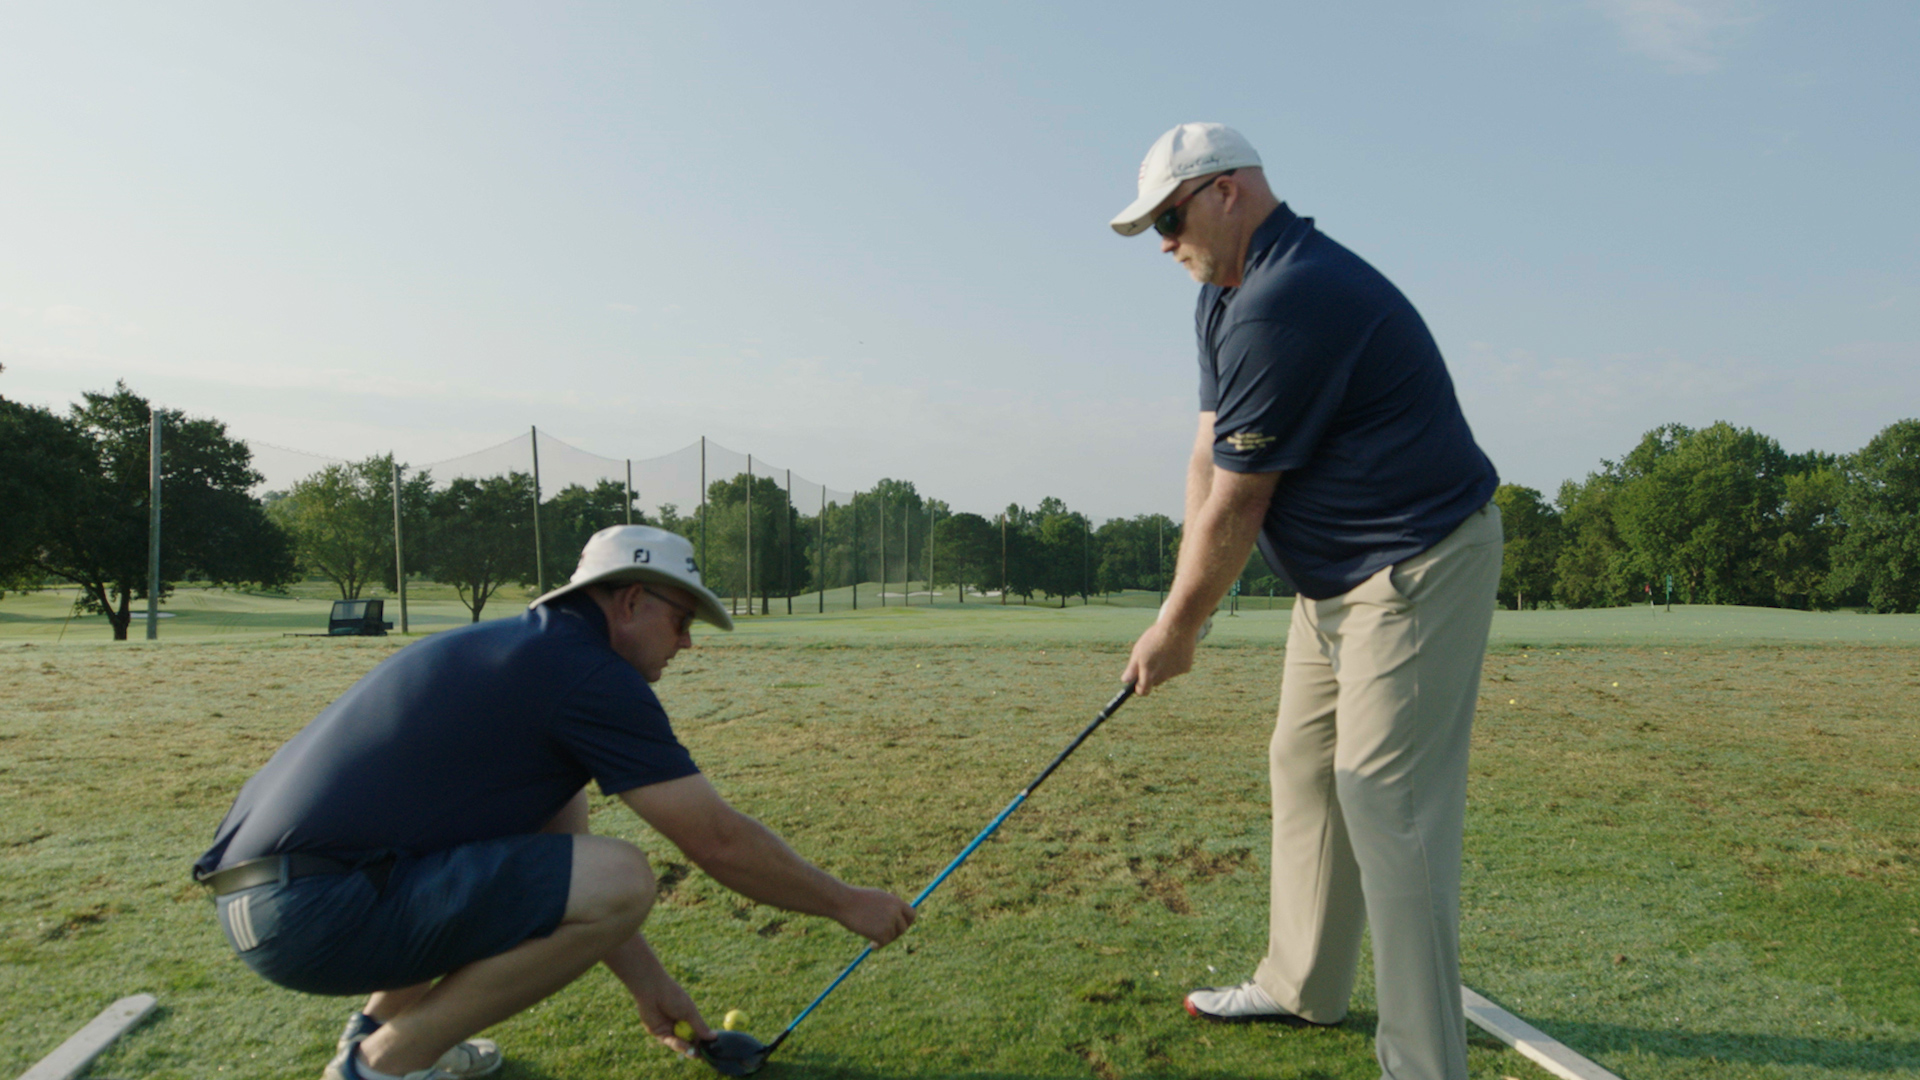
<path fill-rule="evenodd" d="M 1311 600 L 1409 559 L 1500 484 L 1413 304 L 1284 204 L 1254 231 L 1236 288 L 1194 313 L 1213 463 L 1283 473 L 1267 565 Z"/>

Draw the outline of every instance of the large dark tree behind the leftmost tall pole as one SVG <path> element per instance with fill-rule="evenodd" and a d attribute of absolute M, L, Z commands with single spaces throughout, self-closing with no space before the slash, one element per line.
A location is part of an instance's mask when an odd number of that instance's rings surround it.
<path fill-rule="evenodd" d="M 81 609 L 106 615 L 115 642 L 127 640 L 132 601 L 146 598 L 150 419 L 146 398 L 125 382 L 111 394 L 83 394 L 67 423 L 86 444 L 86 467 L 73 498 L 46 507 L 33 557 L 40 573 L 81 586 Z M 248 494 L 261 477 L 246 444 L 213 419 L 165 413 L 165 423 L 159 600 L 177 580 L 292 580 L 286 532 Z"/>

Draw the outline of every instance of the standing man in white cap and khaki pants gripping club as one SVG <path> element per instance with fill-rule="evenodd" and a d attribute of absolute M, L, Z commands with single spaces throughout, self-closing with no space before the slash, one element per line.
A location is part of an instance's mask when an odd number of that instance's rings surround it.
<path fill-rule="evenodd" d="M 1187 530 L 1123 678 L 1144 696 L 1192 669 L 1256 542 L 1298 592 L 1269 751 L 1267 955 L 1187 1011 L 1336 1024 L 1371 926 L 1380 1068 L 1465 1080 L 1459 867 L 1500 582 L 1494 467 L 1413 306 L 1279 202 L 1240 133 L 1162 135 L 1112 225 L 1152 225 L 1202 284 Z"/>

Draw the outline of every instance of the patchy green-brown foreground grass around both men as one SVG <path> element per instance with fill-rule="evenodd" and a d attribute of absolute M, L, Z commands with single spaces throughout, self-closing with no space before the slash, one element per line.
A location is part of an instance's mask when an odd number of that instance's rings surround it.
<path fill-rule="evenodd" d="M 186 863 L 246 776 L 396 644 L 0 651 L 0 1074 L 140 990 L 161 1009 L 96 1076 L 319 1072 L 351 1001 L 248 972 Z M 1121 663 L 1114 646 L 762 644 L 685 653 L 660 692 L 728 798 L 910 896 Z M 1897 648 L 1496 651 L 1469 984 L 1634 1080 L 1914 1070 L 1916 684 L 1920 650 Z M 1227 648 L 1129 703 L 768 1074 L 1377 1076 L 1367 974 L 1334 1030 L 1179 1011 L 1263 945 L 1275 694 L 1269 651 Z M 772 1038 L 858 951 L 720 890 L 616 801 L 593 822 L 653 855 L 649 936 L 710 1019 L 745 1009 Z M 605 972 L 492 1036 L 507 1080 L 705 1074 L 639 1032 Z M 1476 1076 L 1540 1074 L 1471 1047 Z"/>

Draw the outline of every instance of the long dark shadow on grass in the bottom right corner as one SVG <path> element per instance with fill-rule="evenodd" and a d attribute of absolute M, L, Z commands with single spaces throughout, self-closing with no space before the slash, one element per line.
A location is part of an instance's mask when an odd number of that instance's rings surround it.
<path fill-rule="evenodd" d="M 1534 1020 L 1576 1051 L 1711 1059 L 1728 1065 L 1820 1065 L 1912 1074 L 1920 1040 L 1834 1040 L 1736 1032 L 1655 1032 L 1586 1020 Z"/>

